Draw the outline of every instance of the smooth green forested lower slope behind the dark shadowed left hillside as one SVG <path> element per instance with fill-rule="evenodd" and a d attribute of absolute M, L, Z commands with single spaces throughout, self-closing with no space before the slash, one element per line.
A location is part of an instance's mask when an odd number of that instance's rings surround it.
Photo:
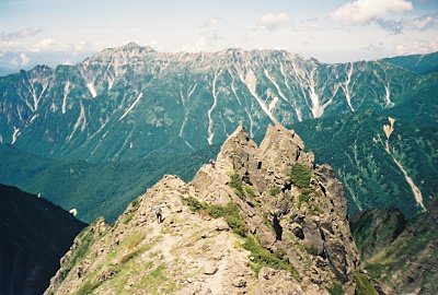
<path fill-rule="evenodd" d="M 113 223 L 130 201 L 164 174 L 188 180 L 218 151 L 218 145 L 211 145 L 188 155 L 89 163 L 44 158 L 4 144 L 0 146 L 0 182 L 42 193 L 66 210 L 76 209 L 77 216 L 85 222 L 103 215 Z"/>

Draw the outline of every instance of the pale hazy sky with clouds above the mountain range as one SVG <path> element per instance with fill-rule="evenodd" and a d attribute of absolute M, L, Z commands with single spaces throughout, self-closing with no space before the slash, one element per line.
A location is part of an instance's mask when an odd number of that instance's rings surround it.
<path fill-rule="evenodd" d="M 323 62 L 438 51 L 438 0 L 1 0 L 0 68 L 158 51 L 285 49 Z"/>

